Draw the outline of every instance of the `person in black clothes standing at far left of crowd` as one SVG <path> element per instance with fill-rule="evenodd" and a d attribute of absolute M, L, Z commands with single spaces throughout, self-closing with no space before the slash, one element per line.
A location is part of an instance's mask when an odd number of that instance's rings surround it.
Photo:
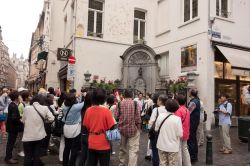
<path fill-rule="evenodd" d="M 21 116 L 18 111 L 18 97 L 17 91 L 12 91 L 9 94 L 11 103 L 8 107 L 8 117 L 6 123 L 6 131 L 8 132 L 8 140 L 6 145 L 5 161 L 8 164 L 17 164 L 18 161 L 12 158 L 12 151 L 16 142 L 18 132 L 23 130 L 23 124 L 21 122 Z"/>

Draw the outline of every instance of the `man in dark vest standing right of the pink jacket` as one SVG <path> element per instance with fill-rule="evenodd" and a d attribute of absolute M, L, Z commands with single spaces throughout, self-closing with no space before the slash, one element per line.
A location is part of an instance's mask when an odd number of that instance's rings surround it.
<path fill-rule="evenodd" d="M 188 150 L 190 153 L 191 162 L 198 161 L 198 142 L 197 129 L 200 123 L 200 99 L 198 98 L 198 91 L 191 89 L 189 92 L 190 102 L 188 110 L 190 111 L 190 135 L 188 140 Z"/>

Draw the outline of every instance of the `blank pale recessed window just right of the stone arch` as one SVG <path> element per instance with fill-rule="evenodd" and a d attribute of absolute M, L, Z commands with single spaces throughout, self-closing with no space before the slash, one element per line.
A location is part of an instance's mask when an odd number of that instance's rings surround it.
<path fill-rule="evenodd" d="M 169 52 L 161 54 L 161 58 L 158 60 L 158 64 L 160 66 L 160 76 L 168 76 L 169 75 Z"/>

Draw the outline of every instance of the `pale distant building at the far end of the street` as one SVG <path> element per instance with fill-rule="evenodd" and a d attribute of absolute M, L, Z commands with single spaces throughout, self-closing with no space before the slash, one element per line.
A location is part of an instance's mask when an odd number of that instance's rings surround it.
<path fill-rule="evenodd" d="M 27 59 L 24 59 L 23 55 L 20 58 L 17 58 L 16 54 L 13 54 L 10 61 L 14 65 L 17 72 L 17 88 L 26 87 L 27 79 L 29 76 L 29 62 Z"/>

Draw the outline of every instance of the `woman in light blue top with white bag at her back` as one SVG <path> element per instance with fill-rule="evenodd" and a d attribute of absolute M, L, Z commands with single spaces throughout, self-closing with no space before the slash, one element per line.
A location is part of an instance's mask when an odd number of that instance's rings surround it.
<path fill-rule="evenodd" d="M 66 96 L 63 108 L 63 134 L 65 148 L 63 152 L 63 166 L 74 166 L 77 152 L 81 147 L 81 110 L 84 103 L 78 103 L 76 95 L 70 93 Z"/>

